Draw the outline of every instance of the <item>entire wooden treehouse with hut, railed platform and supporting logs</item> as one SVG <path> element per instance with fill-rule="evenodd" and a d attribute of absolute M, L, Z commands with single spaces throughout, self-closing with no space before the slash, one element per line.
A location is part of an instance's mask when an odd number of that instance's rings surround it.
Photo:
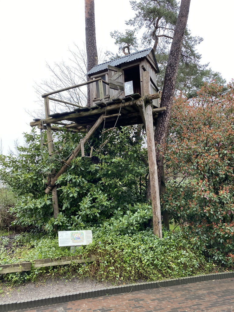
<path fill-rule="evenodd" d="M 95 130 L 101 124 L 105 124 L 106 130 L 103 131 L 105 133 L 113 131 L 116 127 L 143 123 L 147 135 L 154 234 L 162 237 L 153 126 L 158 113 L 165 110 L 165 108 L 159 107 L 159 92 L 156 85 L 157 73 L 159 73 L 159 70 L 153 49 L 148 48 L 94 66 L 87 73 L 90 77 L 88 82 L 42 95 L 45 101 L 46 117 L 45 119 L 34 119 L 30 125 L 32 127 L 38 126 L 39 129 L 46 129 L 49 155 L 54 153 L 52 130 L 85 132 L 86 127 L 91 126 L 91 129 L 80 140 L 80 144 L 74 149 L 70 158 L 63 161 L 62 168 L 57 173 L 53 171 L 49 174 L 45 193 L 52 190 L 55 218 L 59 212 L 56 189 L 57 178 L 66 171 L 72 159 L 80 151 L 81 156 L 84 155 L 84 144 Z M 75 103 L 51 97 L 53 94 L 79 88 L 83 85 L 90 85 L 91 107 L 82 107 Z M 61 102 L 72 107 L 73 110 L 50 114 L 49 101 Z"/>

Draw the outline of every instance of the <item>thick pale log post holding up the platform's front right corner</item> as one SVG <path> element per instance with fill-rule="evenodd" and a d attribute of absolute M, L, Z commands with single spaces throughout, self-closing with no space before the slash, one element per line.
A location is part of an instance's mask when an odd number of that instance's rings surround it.
<path fill-rule="evenodd" d="M 143 95 L 148 95 L 150 94 L 149 72 L 144 71 L 142 73 L 142 78 L 143 78 Z M 161 208 L 158 189 L 158 170 L 155 155 L 154 126 L 151 105 L 147 105 L 145 107 L 144 118 L 147 136 L 148 159 L 149 159 L 149 176 L 151 185 L 154 235 L 157 235 L 159 238 L 162 238 Z"/>

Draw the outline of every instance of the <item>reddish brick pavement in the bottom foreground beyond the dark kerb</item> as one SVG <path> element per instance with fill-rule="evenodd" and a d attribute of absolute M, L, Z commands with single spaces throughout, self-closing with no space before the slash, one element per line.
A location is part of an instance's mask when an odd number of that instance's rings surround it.
<path fill-rule="evenodd" d="M 20 312 L 234 312 L 234 279 L 71 301 Z"/>

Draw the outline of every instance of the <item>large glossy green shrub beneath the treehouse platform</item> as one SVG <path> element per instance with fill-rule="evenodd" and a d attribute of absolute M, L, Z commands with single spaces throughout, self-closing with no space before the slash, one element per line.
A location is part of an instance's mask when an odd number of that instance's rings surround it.
<path fill-rule="evenodd" d="M 94 152 L 97 163 L 89 157 L 74 159 L 71 168 L 57 180 L 60 213 L 56 219 L 51 193 L 44 193 L 47 174 L 53 168 L 56 172 L 61 168 L 59 159 L 71 155 L 83 134 L 56 135 L 55 149 L 63 149 L 55 158 L 49 157 L 46 149 L 41 150 L 43 136 L 45 134 L 40 137 L 33 129 L 25 134 L 26 144 L 17 147 L 17 155 L 0 156 L 0 178 L 17 195 L 16 205 L 11 209 L 15 213 L 15 224 L 46 231 L 53 231 L 55 226 L 62 230 L 104 224 L 114 229 L 119 227 L 116 222 L 120 221 L 116 217 L 121 215 L 121 228 L 129 223 L 132 232 L 141 228 L 141 222 L 147 223 L 150 211 L 144 211 L 151 207 L 142 202 L 145 202 L 148 169 L 141 159 L 146 150 L 142 147 L 143 138 L 136 139 L 134 128 L 116 130 L 101 153 Z M 101 139 L 102 135 L 97 131 L 89 144 L 98 150 Z M 87 144 L 85 154 L 89 152 Z"/>

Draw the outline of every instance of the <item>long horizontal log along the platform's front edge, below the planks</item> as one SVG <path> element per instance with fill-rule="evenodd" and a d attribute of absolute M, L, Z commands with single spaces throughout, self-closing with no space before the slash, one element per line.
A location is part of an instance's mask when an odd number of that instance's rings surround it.
<path fill-rule="evenodd" d="M 160 97 L 159 93 L 150 94 L 149 100 L 159 99 L 159 97 Z M 128 102 L 125 102 L 125 103 L 116 103 L 116 104 L 112 104 L 112 105 L 107 105 L 106 107 L 100 107 L 100 108 L 97 108 L 94 110 L 80 111 L 80 112 L 76 112 L 76 113 L 74 112 L 72 114 L 67 115 L 67 117 L 66 117 L 66 115 L 62 115 L 62 116 L 58 116 L 58 117 L 50 117 L 50 118 L 46 118 L 46 119 L 40 119 L 37 121 L 30 122 L 30 126 L 35 127 L 35 126 L 38 126 L 39 124 L 42 124 L 42 123 L 43 124 L 53 124 L 54 122 L 58 122 L 61 120 L 70 120 L 70 119 L 82 118 L 82 117 L 86 117 L 86 116 L 89 117 L 89 116 L 94 116 L 94 115 L 98 115 L 98 114 L 104 114 L 105 111 L 109 112 L 111 110 L 119 109 L 121 105 L 122 105 L 122 108 L 131 106 L 131 105 L 135 105 L 137 103 L 137 101 L 140 99 L 142 99 L 142 98 L 129 100 Z"/>

